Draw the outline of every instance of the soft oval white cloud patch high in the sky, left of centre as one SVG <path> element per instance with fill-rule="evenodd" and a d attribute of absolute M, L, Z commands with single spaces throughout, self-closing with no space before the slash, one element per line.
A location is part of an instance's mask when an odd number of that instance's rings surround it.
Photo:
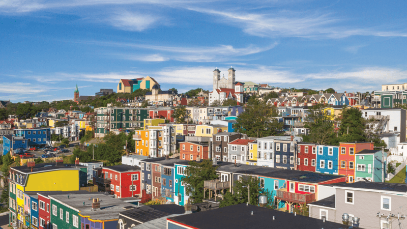
<path fill-rule="evenodd" d="M 107 21 L 114 27 L 127 31 L 143 31 L 155 24 L 160 18 L 151 14 L 119 11 Z"/>

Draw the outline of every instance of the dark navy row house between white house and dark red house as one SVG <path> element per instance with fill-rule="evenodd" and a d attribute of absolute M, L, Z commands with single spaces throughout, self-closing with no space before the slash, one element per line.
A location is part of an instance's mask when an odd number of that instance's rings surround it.
<path fill-rule="evenodd" d="M 290 140 L 274 140 L 274 167 L 294 169 L 296 144 Z"/>

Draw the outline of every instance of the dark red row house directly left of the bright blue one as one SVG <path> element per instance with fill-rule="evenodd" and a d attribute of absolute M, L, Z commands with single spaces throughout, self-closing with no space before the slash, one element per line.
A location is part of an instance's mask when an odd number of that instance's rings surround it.
<path fill-rule="evenodd" d="M 297 170 L 315 171 L 316 145 L 307 142 L 298 142 L 297 147 Z"/>

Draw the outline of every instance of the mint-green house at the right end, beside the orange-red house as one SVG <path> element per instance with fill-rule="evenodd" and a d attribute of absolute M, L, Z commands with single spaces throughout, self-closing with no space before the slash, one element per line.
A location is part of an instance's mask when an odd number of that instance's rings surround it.
<path fill-rule="evenodd" d="M 383 182 L 382 169 L 385 169 L 383 176 L 386 178 L 386 154 L 383 164 L 382 154 L 381 150 L 362 150 L 355 154 L 356 181 L 367 179 L 373 182 Z"/>

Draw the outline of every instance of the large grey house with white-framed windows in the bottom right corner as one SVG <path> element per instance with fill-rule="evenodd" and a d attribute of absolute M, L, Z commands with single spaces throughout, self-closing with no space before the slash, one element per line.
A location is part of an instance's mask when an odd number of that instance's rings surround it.
<path fill-rule="evenodd" d="M 347 213 L 359 217 L 362 228 L 407 227 L 407 184 L 358 181 L 334 187 L 335 195 L 308 204 L 310 217 L 341 223 Z"/>

